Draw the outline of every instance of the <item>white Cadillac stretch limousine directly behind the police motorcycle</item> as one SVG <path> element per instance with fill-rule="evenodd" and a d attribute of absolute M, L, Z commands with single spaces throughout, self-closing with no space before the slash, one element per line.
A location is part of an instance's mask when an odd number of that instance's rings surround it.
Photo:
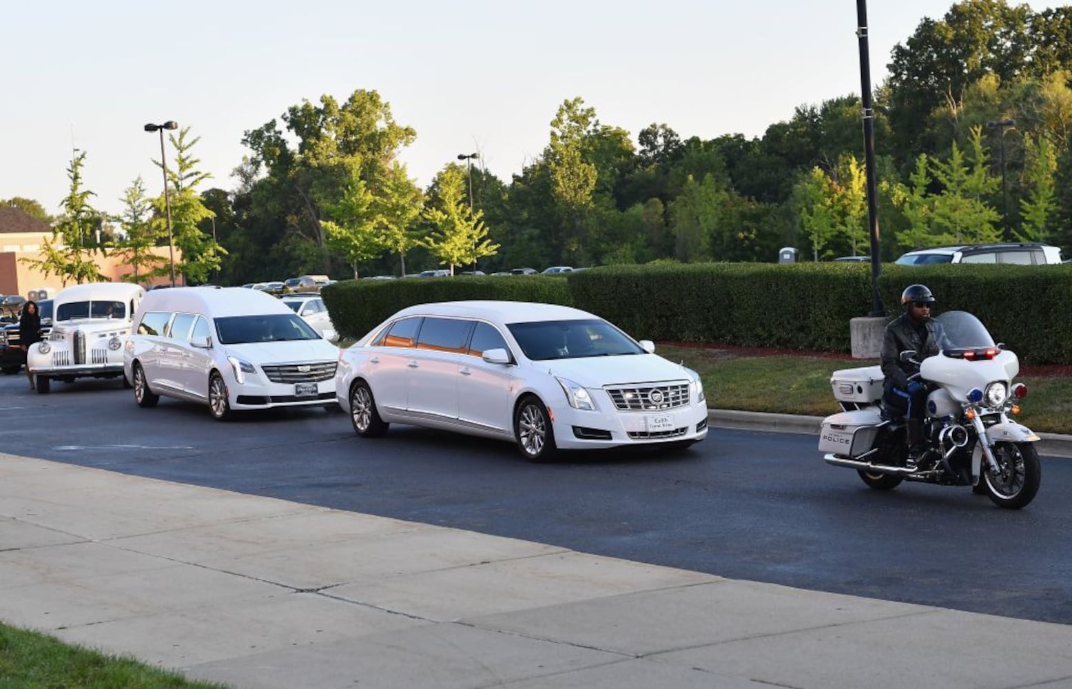
<path fill-rule="evenodd" d="M 591 313 L 517 301 L 403 309 L 339 358 L 358 435 L 390 422 L 555 448 L 687 447 L 708 434 L 700 376 Z"/>

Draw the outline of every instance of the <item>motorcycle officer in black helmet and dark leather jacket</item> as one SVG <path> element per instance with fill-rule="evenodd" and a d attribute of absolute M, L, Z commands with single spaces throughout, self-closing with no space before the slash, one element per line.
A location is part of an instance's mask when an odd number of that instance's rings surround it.
<path fill-rule="evenodd" d="M 941 324 L 930 318 L 930 306 L 935 298 L 926 285 L 909 285 L 900 294 L 900 317 L 885 327 L 880 354 L 882 374 L 882 402 L 887 411 L 905 418 L 905 440 L 908 444 L 908 459 L 905 465 L 914 471 L 920 460 L 927 452 L 923 439 L 923 416 L 927 390 L 919 380 L 908 377 L 919 372 L 919 365 L 902 362 L 900 353 L 915 351 L 915 360 L 923 361 L 948 346 Z"/>

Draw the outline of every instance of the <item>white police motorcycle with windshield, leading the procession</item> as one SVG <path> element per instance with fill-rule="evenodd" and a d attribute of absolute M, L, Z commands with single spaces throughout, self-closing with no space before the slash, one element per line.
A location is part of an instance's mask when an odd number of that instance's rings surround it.
<path fill-rule="evenodd" d="M 936 316 L 949 347 L 915 360 L 909 376 L 926 386 L 923 437 L 927 451 L 914 467 L 907 464 L 905 420 L 885 414 L 882 369 L 864 366 L 831 376 L 839 414 L 822 422 L 819 451 L 828 464 L 857 469 L 868 486 L 889 491 L 902 481 L 971 485 L 999 507 L 1019 509 L 1039 491 L 1042 467 L 1034 443 L 1039 436 L 1012 417 L 1027 386 L 1013 384 L 1019 372 L 1016 355 L 995 344 L 986 327 L 964 311 Z"/>

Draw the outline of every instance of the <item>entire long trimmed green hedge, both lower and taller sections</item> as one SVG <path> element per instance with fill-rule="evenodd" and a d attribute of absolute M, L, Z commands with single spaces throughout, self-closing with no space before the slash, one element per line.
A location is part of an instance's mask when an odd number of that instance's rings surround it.
<path fill-rule="evenodd" d="M 1028 363 L 1072 364 L 1072 266 L 884 264 L 889 316 L 923 283 L 943 310 L 969 311 Z M 609 266 L 565 278 L 346 281 L 324 288 L 336 326 L 364 334 L 399 309 L 430 301 L 504 299 L 577 306 L 635 338 L 850 351 L 849 319 L 872 311 L 870 264 Z"/>

